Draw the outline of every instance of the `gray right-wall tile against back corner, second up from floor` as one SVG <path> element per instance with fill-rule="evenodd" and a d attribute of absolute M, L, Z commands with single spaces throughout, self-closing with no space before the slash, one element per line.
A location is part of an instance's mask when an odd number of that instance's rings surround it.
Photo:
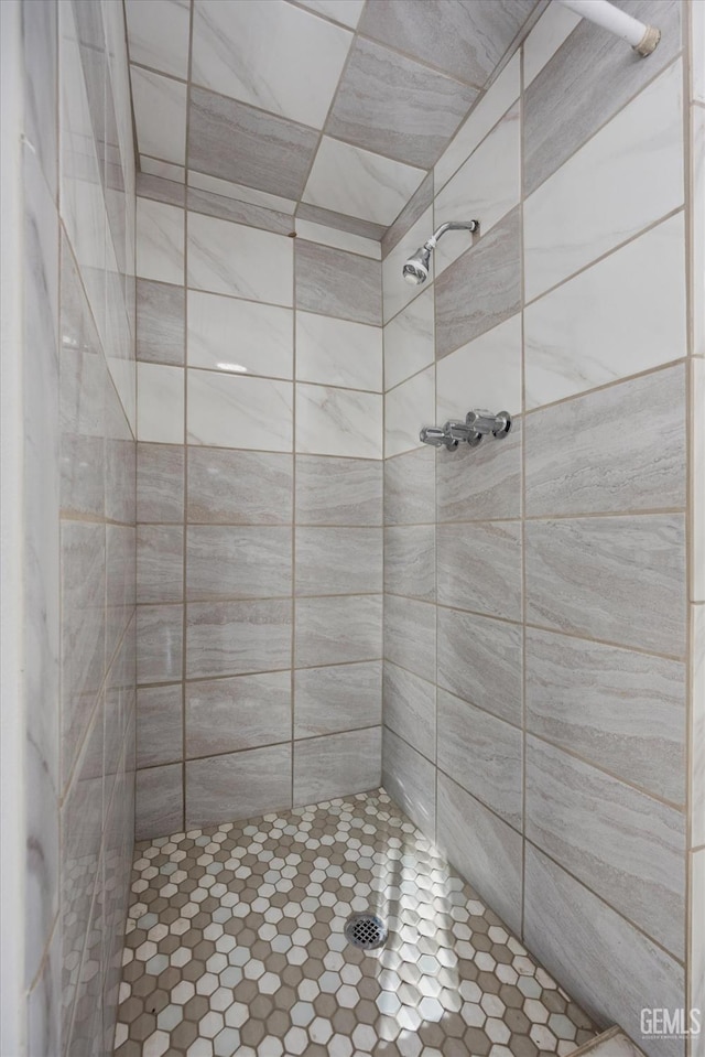
<path fill-rule="evenodd" d="M 436 688 L 404 668 L 384 661 L 383 721 L 422 755 L 434 759 L 436 745 Z"/>

